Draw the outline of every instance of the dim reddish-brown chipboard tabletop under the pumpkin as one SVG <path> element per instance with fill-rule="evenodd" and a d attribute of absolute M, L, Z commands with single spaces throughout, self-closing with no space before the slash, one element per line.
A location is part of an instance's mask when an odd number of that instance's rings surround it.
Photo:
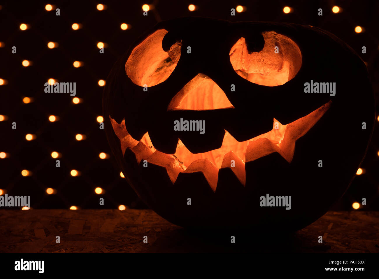
<path fill-rule="evenodd" d="M 290 235 L 246 230 L 230 243 L 231 235 L 185 230 L 152 210 L 0 210 L 0 252 L 58 253 L 379 252 L 379 212 L 330 211 Z"/>

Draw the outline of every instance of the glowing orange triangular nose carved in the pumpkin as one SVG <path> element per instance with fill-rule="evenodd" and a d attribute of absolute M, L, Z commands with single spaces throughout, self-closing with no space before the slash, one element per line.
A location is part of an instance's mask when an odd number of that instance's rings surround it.
<path fill-rule="evenodd" d="M 171 100 L 167 110 L 234 108 L 225 92 L 205 74 L 197 74 Z"/>

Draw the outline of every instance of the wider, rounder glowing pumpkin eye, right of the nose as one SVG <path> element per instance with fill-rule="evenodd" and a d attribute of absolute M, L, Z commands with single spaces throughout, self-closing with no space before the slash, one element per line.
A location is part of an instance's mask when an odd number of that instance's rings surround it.
<path fill-rule="evenodd" d="M 265 46 L 260 52 L 249 53 L 245 38 L 230 49 L 234 71 L 249 82 L 265 86 L 283 85 L 299 72 L 301 52 L 290 38 L 275 31 L 262 33 Z"/>

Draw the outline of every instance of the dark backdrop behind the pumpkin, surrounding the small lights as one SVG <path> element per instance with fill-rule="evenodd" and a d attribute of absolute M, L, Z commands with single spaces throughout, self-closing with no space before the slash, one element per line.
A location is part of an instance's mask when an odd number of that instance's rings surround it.
<path fill-rule="evenodd" d="M 379 88 L 379 2 L 377 1 L 102 1 L 106 9 L 98 11 L 94 1 L 8 1 L 0 3 L 0 78 L 8 81 L 0 86 L 0 114 L 8 116 L 0 122 L 0 152 L 9 157 L 0 159 L 0 188 L 12 196 L 31 196 L 32 208 L 117 208 L 124 204 L 130 208 L 146 208 L 127 182 L 119 176 L 119 168 L 110 152 L 104 130 L 99 129 L 97 116 L 102 115 L 101 95 L 103 87 L 97 82 L 105 80 L 111 67 L 147 28 L 158 21 L 182 16 L 203 16 L 231 21 L 275 21 L 312 25 L 330 31 L 352 47 L 366 62 L 373 90 Z M 60 8 L 46 11 L 45 5 Z M 153 4 L 154 8 L 143 16 L 142 5 Z M 188 5 L 197 10 L 190 12 Z M 243 13 L 230 15 L 237 5 L 246 7 Z M 342 11 L 332 13 L 338 5 Z M 290 6 L 290 14 L 283 7 Z M 318 16 L 318 9 L 323 16 Z M 30 25 L 21 31 L 20 24 Z M 73 23 L 82 28 L 74 31 Z M 121 30 L 121 23 L 131 25 Z M 360 25 L 360 34 L 354 28 Z M 47 42 L 58 42 L 55 49 L 47 48 Z M 104 54 L 99 53 L 97 42 L 106 43 Z M 309 42 L 312 44 L 312 42 Z M 12 53 L 12 47 L 17 53 Z M 362 54 L 362 46 L 367 53 Z M 205 47 L 211 51 L 217 47 L 211 42 Z M 204 49 L 207 51 L 207 49 Z M 22 61 L 33 65 L 23 67 Z M 83 61 L 84 66 L 74 68 L 72 63 Z M 83 99 L 73 104 L 69 94 L 44 93 L 44 83 L 49 78 L 59 82 L 76 82 L 77 95 Z M 359 95 L 359 92 L 356 92 Z M 23 103 L 23 97 L 32 97 L 32 103 Z M 354 109 L 354 108 L 352 108 Z M 60 117 L 49 122 L 49 115 Z M 343 115 L 341 115 L 343 119 Z M 12 122 L 17 130 L 12 130 Z M 376 122 L 376 126 L 379 122 Z M 336 127 L 338 129 L 338 127 Z M 377 127 L 362 163 L 365 173 L 357 176 L 345 196 L 334 205 L 334 210 L 352 210 L 353 202 L 371 197 L 371 204 L 359 210 L 379 210 L 379 134 Z M 37 138 L 27 141 L 27 133 Z M 77 141 L 77 133 L 85 134 L 86 140 Z M 341 131 L 341 141 L 349 140 L 349 131 Z M 336 142 L 335 144 L 338 144 Z M 61 167 L 55 167 L 51 152 L 60 152 Z M 99 153 L 110 154 L 101 160 Z M 349 154 L 350 150 L 346 150 Z M 341 161 L 343 163 L 343 161 Z M 33 172 L 23 177 L 22 169 Z M 81 176 L 70 176 L 77 169 Z M 46 188 L 57 190 L 48 195 Z M 105 189 L 105 194 L 94 193 L 96 187 Z M 104 197 L 105 205 L 99 205 Z M 374 197 L 374 198 L 373 198 Z M 322 201 L 320 201 L 321 203 Z"/>

